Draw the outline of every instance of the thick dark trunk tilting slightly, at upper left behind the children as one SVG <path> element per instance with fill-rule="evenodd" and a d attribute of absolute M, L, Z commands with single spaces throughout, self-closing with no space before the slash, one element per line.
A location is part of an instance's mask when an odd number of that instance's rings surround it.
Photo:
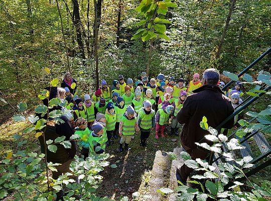
<path fill-rule="evenodd" d="M 75 30 L 76 30 L 76 38 L 77 38 L 77 43 L 79 46 L 79 51 L 81 54 L 82 59 L 85 59 L 85 52 L 84 52 L 84 45 L 83 45 L 83 40 L 82 40 L 82 33 L 81 33 L 81 19 L 80 19 L 80 14 L 79 14 L 79 5 L 77 0 L 72 0 L 73 4 L 73 15 L 74 15 L 74 24 L 75 24 Z"/>

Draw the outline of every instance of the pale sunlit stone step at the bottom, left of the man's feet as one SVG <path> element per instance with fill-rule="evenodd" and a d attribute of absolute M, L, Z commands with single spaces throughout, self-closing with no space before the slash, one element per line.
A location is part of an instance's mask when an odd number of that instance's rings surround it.
<path fill-rule="evenodd" d="M 168 153 L 157 151 L 155 154 L 154 165 L 152 169 L 152 177 L 149 182 L 148 195 L 152 201 L 159 201 L 162 199 L 162 194 L 157 192 L 162 187 L 167 187 L 165 184 L 168 181 L 168 175 L 171 166 L 171 159 Z"/>

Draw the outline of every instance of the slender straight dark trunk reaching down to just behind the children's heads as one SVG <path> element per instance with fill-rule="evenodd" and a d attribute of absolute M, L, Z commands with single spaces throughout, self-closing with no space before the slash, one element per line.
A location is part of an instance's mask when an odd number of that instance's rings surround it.
<path fill-rule="evenodd" d="M 94 0 L 94 33 L 95 33 L 94 49 L 95 49 L 96 89 L 98 89 L 99 88 L 98 12 L 97 12 L 97 3 L 96 3 L 96 0 Z"/>

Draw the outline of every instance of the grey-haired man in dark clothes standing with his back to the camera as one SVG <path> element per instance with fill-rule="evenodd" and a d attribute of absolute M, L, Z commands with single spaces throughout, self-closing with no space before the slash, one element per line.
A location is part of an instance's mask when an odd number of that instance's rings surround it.
<path fill-rule="evenodd" d="M 198 149 L 195 144 L 208 133 L 200 127 L 203 116 L 207 118 L 208 125 L 215 128 L 234 112 L 231 100 L 217 86 L 218 80 L 219 73 L 214 68 L 205 70 L 202 77 L 203 86 L 186 98 L 183 108 L 177 114 L 178 122 L 185 124 L 181 132 L 181 144 L 192 159 L 206 159 L 208 156 L 207 152 Z M 231 119 L 223 128 L 230 129 L 233 124 L 234 120 Z M 178 167 L 177 179 L 185 183 L 192 171 L 193 169 L 185 164 Z"/>

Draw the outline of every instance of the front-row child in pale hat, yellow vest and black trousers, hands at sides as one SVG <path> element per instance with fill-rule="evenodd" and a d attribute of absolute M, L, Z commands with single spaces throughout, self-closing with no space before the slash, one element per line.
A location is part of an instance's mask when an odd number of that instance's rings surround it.
<path fill-rule="evenodd" d="M 141 130 L 140 146 L 146 147 L 151 130 L 155 130 L 155 111 L 152 109 L 150 100 L 144 100 L 143 108 L 139 112 L 138 125 Z"/>

